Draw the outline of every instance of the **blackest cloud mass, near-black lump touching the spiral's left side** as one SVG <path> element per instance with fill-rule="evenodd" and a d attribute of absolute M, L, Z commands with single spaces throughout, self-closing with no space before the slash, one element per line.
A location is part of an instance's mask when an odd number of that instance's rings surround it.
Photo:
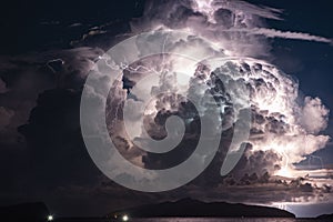
<path fill-rule="evenodd" d="M 42 92 L 24 134 L 33 173 L 31 181 L 39 192 L 81 182 L 93 183 L 99 175 L 81 139 L 80 91 L 53 89 Z"/>

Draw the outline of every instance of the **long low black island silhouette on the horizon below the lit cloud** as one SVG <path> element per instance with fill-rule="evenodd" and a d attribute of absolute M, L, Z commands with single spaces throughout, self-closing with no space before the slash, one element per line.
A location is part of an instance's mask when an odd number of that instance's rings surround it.
<path fill-rule="evenodd" d="M 148 204 L 138 208 L 123 209 L 110 213 L 108 216 L 121 216 L 128 214 L 131 218 L 167 218 L 167 216 L 215 216 L 215 218 L 295 218 L 294 214 L 274 208 L 245 205 L 241 203 L 211 202 L 205 203 L 192 199 L 183 199 L 175 202 Z"/>

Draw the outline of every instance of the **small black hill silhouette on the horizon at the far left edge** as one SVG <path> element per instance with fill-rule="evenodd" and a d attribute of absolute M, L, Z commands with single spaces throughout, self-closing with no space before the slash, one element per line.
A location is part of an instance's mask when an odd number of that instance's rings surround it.
<path fill-rule="evenodd" d="M 3 222 L 42 222 L 48 215 L 49 210 L 42 202 L 0 206 L 0 221 Z"/>

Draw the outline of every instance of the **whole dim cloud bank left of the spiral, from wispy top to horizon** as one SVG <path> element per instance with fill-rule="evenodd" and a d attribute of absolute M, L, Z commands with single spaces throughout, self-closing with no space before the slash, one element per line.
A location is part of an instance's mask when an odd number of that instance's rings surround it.
<path fill-rule="evenodd" d="M 1 58 L 0 167 L 7 183 L 0 204 L 47 201 L 58 186 L 93 183 L 99 171 L 81 139 L 79 104 L 101 52 L 78 48 Z"/>

